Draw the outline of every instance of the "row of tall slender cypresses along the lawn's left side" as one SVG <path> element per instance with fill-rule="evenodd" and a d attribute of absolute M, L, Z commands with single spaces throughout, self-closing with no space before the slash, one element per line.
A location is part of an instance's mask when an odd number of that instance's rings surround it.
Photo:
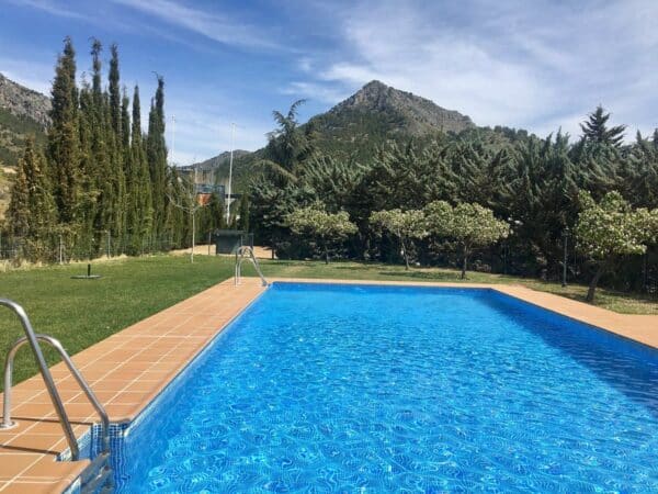
<path fill-rule="evenodd" d="M 192 186 L 167 162 L 164 80 L 157 76 L 144 132 L 139 87 L 131 98 L 122 86 L 115 44 L 103 83 L 102 49 L 93 40 L 91 80 L 83 74 L 78 83 L 76 50 L 65 40 L 45 147 L 29 139 L 18 164 L 4 229 L 30 260 L 53 260 L 61 243 L 82 258 L 189 245 L 189 212 L 177 205 Z M 197 234 L 224 226 L 223 209 L 214 194 L 200 210 Z"/>

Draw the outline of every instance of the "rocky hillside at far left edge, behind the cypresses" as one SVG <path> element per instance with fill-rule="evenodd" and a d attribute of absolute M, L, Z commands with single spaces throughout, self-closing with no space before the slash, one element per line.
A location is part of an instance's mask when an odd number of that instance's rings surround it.
<path fill-rule="evenodd" d="M 0 74 L 0 162 L 15 165 L 25 137 L 45 142 L 50 99 Z"/>

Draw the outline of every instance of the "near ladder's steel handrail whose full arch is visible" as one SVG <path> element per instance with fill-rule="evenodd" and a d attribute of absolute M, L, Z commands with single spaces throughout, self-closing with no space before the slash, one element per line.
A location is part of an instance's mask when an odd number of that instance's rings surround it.
<path fill-rule="evenodd" d="M 93 393 L 93 391 L 91 390 L 91 388 L 89 386 L 89 384 L 87 383 L 87 381 L 84 380 L 84 378 L 82 377 L 82 374 L 80 373 L 80 371 L 78 370 L 76 364 L 72 362 L 69 355 L 66 352 L 66 350 L 61 346 L 61 343 L 59 343 L 58 339 L 55 339 L 52 336 L 47 336 L 47 335 L 36 334 L 34 336 L 36 337 L 36 339 L 38 341 L 44 341 L 44 343 L 50 345 L 53 348 L 55 348 L 57 350 L 57 352 L 59 353 L 59 356 L 61 357 L 61 360 L 64 360 L 64 362 L 66 363 L 66 367 L 68 367 L 69 371 L 71 372 L 71 374 L 78 382 L 78 385 L 84 392 L 87 400 L 89 400 L 89 402 L 94 407 L 94 409 L 97 411 L 97 413 L 99 414 L 99 416 L 101 418 L 101 425 L 102 425 L 102 429 L 103 429 L 102 436 L 101 436 L 102 437 L 101 452 L 110 451 L 110 417 L 107 416 L 105 408 L 103 407 L 101 402 L 99 402 L 99 398 Z M 7 356 L 7 362 L 4 363 L 3 419 L 2 419 L 2 426 L 0 426 L 3 428 L 13 426 L 13 423 L 11 422 L 11 388 L 12 388 L 12 377 L 13 377 L 13 361 L 14 361 L 14 358 L 15 358 L 19 349 L 26 343 L 27 343 L 26 336 L 23 336 L 23 337 L 16 339 L 16 341 L 13 344 L 13 346 L 9 350 L 9 353 Z M 76 440 L 76 442 L 77 442 L 77 440 Z M 72 450 L 71 450 L 71 453 L 72 453 Z"/>

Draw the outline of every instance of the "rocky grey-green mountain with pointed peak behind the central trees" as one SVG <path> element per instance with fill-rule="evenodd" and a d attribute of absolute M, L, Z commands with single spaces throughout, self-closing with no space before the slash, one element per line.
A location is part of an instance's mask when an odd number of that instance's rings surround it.
<path fill-rule="evenodd" d="M 475 124 L 454 110 L 373 80 L 328 112 L 311 117 L 302 127 L 315 132 L 320 150 L 367 160 L 385 141 L 423 138 L 440 132 L 458 134 L 475 128 Z M 262 151 L 240 155 L 234 169 L 238 184 L 248 175 L 250 162 L 262 156 Z M 228 175 L 226 155 L 224 153 L 198 166 L 214 167 L 215 178 L 224 178 Z"/>

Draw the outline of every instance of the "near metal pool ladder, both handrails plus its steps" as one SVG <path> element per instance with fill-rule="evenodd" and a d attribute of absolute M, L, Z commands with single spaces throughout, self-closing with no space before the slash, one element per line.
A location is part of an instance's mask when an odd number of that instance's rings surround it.
<path fill-rule="evenodd" d="M 11 388 L 12 388 L 12 374 L 13 374 L 13 362 L 14 357 L 19 349 L 29 344 L 32 348 L 32 352 L 34 353 L 34 358 L 36 359 L 36 363 L 38 366 L 38 370 L 42 374 L 44 383 L 46 385 L 46 390 L 48 391 L 48 395 L 50 396 L 50 402 L 53 402 L 53 406 L 55 407 L 55 412 L 57 413 L 57 417 L 59 418 L 59 424 L 64 430 L 64 435 L 66 436 L 66 440 L 69 446 L 69 451 L 71 454 L 72 461 L 78 461 L 80 459 L 80 447 L 78 445 L 78 439 L 73 433 L 71 427 L 71 423 L 68 418 L 66 409 L 64 407 L 64 403 L 61 402 L 61 397 L 59 396 L 59 392 L 57 391 L 57 386 L 55 385 L 55 381 L 53 380 L 53 374 L 46 364 L 46 360 L 38 345 L 39 341 L 43 341 L 50 347 L 53 347 L 59 356 L 61 360 L 66 363 L 69 371 L 71 372 L 73 379 L 78 382 L 78 385 L 82 389 L 87 398 L 94 407 L 97 413 L 101 418 L 101 452 L 91 461 L 91 464 L 84 470 L 80 480 L 80 492 L 81 493 L 111 493 L 114 491 L 114 481 L 112 478 L 112 469 L 110 467 L 110 418 L 107 417 L 107 413 L 105 408 L 99 402 L 95 394 L 89 388 L 89 384 L 70 359 L 61 344 L 47 335 L 39 335 L 34 333 L 32 328 L 32 324 L 30 323 L 30 318 L 25 313 L 25 310 L 19 305 L 18 303 L 9 300 L 9 299 L 0 299 L 0 305 L 5 306 L 11 310 L 23 326 L 23 330 L 25 332 L 25 336 L 19 338 L 9 350 L 7 355 L 7 361 L 4 364 L 4 400 L 3 400 L 3 413 L 2 413 L 2 423 L 0 423 L 0 429 L 9 429 L 15 427 L 18 424 L 11 419 Z"/>

